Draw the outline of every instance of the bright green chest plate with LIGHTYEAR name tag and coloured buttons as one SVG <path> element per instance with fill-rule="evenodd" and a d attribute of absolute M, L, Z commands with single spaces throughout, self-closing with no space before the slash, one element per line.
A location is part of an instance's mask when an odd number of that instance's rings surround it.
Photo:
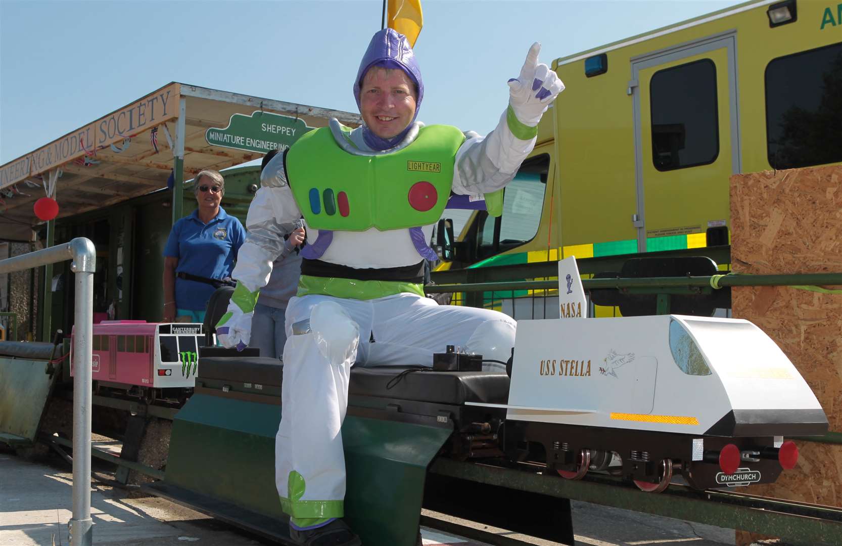
<path fill-rule="evenodd" d="M 450 198 L 456 151 L 464 135 L 453 126 L 425 126 L 395 153 L 345 152 L 328 127 L 306 133 L 286 156 L 286 173 L 307 225 L 381 231 L 438 222 Z"/>

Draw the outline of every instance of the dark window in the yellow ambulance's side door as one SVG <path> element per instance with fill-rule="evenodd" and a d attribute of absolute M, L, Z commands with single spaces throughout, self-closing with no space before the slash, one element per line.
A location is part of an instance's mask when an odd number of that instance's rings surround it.
<path fill-rule="evenodd" d="M 652 76 L 652 161 L 669 171 L 706 165 L 719 155 L 717 66 L 710 59 Z"/>

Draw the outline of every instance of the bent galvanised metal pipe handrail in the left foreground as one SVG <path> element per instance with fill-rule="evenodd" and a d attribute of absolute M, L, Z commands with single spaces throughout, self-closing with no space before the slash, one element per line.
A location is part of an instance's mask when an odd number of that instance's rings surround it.
<path fill-rule="evenodd" d="M 72 351 L 73 362 L 73 517 L 70 520 L 72 546 L 93 543 L 91 519 L 91 357 L 93 349 L 93 272 L 96 249 L 87 238 L 74 238 L 69 243 L 35 250 L 0 260 L 0 275 L 28 270 L 40 265 L 73 260 L 70 270 L 76 274 Z"/>

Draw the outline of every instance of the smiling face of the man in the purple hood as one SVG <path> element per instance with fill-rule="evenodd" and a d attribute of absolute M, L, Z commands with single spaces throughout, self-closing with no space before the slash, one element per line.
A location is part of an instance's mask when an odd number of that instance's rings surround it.
<path fill-rule="evenodd" d="M 415 116 L 413 81 L 402 70 L 371 68 L 360 86 L 360 114 L 377 136 L 397 136 Z"/>

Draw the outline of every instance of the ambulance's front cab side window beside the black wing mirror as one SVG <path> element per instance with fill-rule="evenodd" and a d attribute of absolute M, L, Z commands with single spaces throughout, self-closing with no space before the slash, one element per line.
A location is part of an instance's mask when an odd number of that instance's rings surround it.
<path fill-rule="evenodd" d="M 527 159 L 503 193 L 503 214 L 490 217 L 483 213 L 477 233 L 479 258 L 514 249 L 536 236 L 544 206 L 550 156 L 541 154 Z"/>

